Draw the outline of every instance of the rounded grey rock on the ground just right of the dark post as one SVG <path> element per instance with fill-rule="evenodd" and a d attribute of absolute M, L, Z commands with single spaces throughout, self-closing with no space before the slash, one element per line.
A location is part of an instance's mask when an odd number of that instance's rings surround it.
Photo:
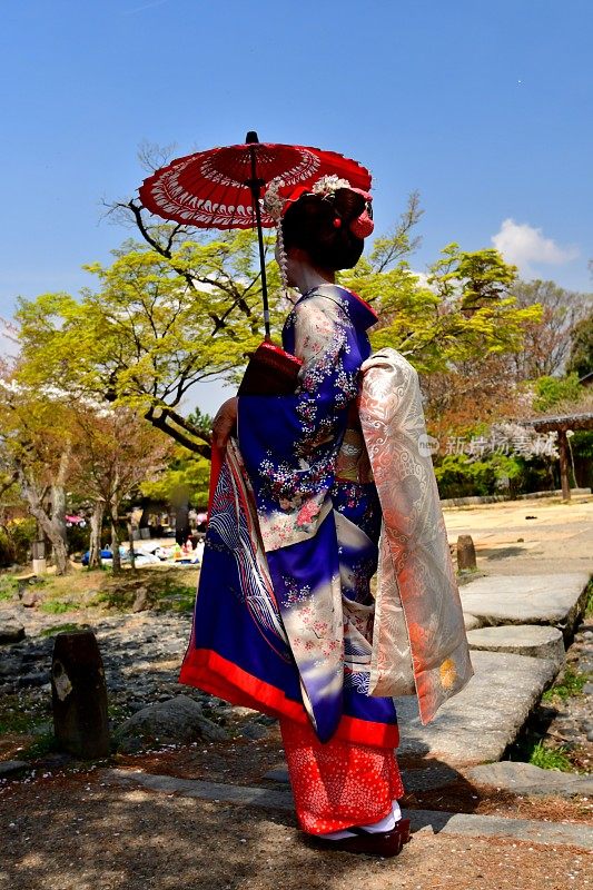
<path fill-rule="evenodd" d="M 205 718 L 201 706 L 187 695 L 142 708 L 118 728 L 115 736 L 123 750 L 137 749 L 140 740 L 171 744 L 228 739 L 227 732 Z"/>

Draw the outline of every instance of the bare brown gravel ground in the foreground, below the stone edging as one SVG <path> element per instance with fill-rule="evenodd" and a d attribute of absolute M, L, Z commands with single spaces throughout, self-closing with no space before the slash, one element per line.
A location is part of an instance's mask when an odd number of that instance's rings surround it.
<path fill-rule="evenodd" d="M 413 835 L 392 860 L 307 848 L 286 813 L 70 775 L 1 792 L 2 890 L 587 890 L 583 850 Z"/>

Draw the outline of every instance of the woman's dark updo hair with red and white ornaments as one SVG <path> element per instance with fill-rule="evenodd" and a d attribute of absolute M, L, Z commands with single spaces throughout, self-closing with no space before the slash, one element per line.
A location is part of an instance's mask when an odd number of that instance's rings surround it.
<path fill-rule="evenodd" d="M 328 195 L 305 192 L 288 206 L 281 219 L 285 250 L 298 247 L 322 269 L 352 269 L 364 248 L 364 238 L 350 226 L 368 210 L 366 199 L 349 188 Z"/>

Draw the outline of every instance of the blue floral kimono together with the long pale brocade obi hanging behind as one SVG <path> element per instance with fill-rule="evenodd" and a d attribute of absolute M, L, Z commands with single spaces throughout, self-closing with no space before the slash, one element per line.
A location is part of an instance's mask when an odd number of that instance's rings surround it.
<path fill-rule="evenodd" d="M 304 295 L 283 337 L 297 392 L 239 397 L 179 681 L 393 749 L 393 695 L 426 723 L 473 670 L 417 378 L 395 350 L 369 358 L 375 320 L 344 288 Z"/>

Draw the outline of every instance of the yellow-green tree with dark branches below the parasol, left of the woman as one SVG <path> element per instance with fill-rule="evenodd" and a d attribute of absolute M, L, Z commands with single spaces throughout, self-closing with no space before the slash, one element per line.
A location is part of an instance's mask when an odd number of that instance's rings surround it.
<path fill-rule="evenodd" d="M 29 386 L 49 382 L 75 396 L 126 405 L 208 456 L 209 434 L 180 405 L 196 383 L 236 374 L 263 338 L 255 236 L 176 243 L 177 228 L 159 227 L 171 245 L 166 251 L 127 243 L 111 266 L 88 266 L 98 288 L 79 300 L 67 294 L 20 299 L 19 376 Z M 270 269 L 273 299 L 275 279 Z"/>

